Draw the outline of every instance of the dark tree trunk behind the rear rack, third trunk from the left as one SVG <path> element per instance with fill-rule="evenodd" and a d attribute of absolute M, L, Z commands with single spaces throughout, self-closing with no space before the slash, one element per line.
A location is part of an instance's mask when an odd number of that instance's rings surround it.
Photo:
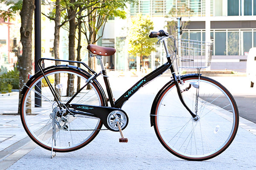
<path fill-rule="evenodd" d="M 75 3 L 76 0 L 71 0 L 70 3 Z M 68 9 L 69 15 L 69 36 L 68 36 L 68 59 L 75 61 L 75 41 L 76 41 L 76 10 L 73 7 Z M 70 65 L 74 65 L 73 62 L 69 63 Z M 74 93 L 74 76 L 68 76 L 67 80 L 67 96 L 72 96 Z"/>

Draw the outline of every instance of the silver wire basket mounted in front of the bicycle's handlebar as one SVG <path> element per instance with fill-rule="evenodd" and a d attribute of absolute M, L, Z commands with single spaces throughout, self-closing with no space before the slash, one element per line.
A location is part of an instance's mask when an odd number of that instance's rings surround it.
<path fill-rule="evenodd" d="M 212 42 L 177 39 L 179 68 L 207 68 L 212 59 Z"/>

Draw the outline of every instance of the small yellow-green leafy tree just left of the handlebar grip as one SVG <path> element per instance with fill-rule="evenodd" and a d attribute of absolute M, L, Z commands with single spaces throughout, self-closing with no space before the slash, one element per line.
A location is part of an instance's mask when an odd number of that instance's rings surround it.
<path fill-rule="evenodd" d="M 143 57 L 149 56 L 155 51 L 154 42 L 156 39 L 149 38 L 150 31 L 154 29 L 153 22 L 148 16 L 137 14 L 131 20 L 131 27 L 128 32 L 128 52 L 134 56 L 140 56 L 140 65 L 144 66 Z M 138 69 L 138 68 L 137 68 Z"/>

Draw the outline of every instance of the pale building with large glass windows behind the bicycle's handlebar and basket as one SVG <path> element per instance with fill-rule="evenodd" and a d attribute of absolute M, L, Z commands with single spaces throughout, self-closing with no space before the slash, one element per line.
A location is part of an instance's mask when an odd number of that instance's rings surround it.
<path fill-rule="evenodd" d="M 210 4 L 207 6 L 207 3 Z M 208 31 L 214 41 L 213 59 L 246 61 L 250 48 L 256 47 L 256 0 L 138 0 L 130 5 L 129 14 L 135 17 L 138 13 L 149 15 L 154 25 L 162 29 L 166 29 L 165 21 L 182 17 L 182 21 L 189 23 L 183 29 L 182 38 L 200 41 L 206 40 L 205 21 L 209 20 Z M 163 47 L 156 48 L 156 52 L 145 57 L 151 69 L 165 62 Z M 136 68 L 136 57 L 127 54 L 126 61 L 128 70 Z M 126 69 L 125 66 L 117 68 Z"/>

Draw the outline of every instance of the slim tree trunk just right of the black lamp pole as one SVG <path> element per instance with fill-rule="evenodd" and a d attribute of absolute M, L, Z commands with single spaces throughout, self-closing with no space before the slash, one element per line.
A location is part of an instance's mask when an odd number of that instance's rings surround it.
<path fill-rule="evenodd" d="M 54 27 L 54 42 L 53 42 L 53 51 L 54 58 L 60 59 L 59 57 L 59 44 L 60 44 L 60 23 L 61 23 L 61 5 L 60 0 L 56 0 L 56 8 L 55 8 L 55 27 Z M 59 61 L 55 61 L 55 65 L 59 65 Z M 56 85 L 60 84 L 60 74 L 55 74 L 55 83 Z M 58 94 L 59 100 L 61 100 L 60 89 L 57 89 L 55 86 L 55 91 Z"/>

